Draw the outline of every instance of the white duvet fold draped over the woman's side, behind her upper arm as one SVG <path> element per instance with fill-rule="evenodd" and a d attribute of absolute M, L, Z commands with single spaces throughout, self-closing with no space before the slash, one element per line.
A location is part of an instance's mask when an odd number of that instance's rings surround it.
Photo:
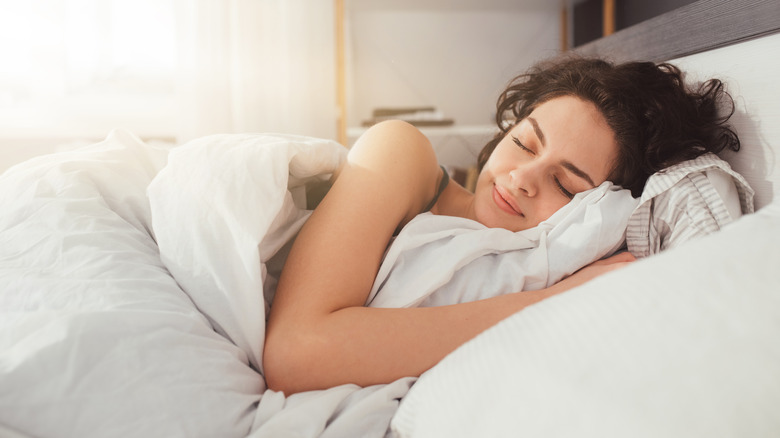
<path fill-rule="evenodd" d="M 149 185 L 160 255 L 214 328 L 262 371 L 266 262 L 309 212 L 291 189 L 326 177 L 346 150 L 308 137 L 219 135 L 171 152 Z"/>

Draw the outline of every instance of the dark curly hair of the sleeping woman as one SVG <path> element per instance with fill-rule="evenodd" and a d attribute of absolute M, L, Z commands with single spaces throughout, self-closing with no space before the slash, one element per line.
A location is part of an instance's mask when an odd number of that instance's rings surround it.
<path fill-rule="evenodd" d="M 514 125 L 561 96 L 578 97 L 599 109 L 619 148 L 609 180 L 634 197 L 663 168 L 706 152 L 739 150 L 739 138 L 727 125 L 734 101 L 720 80 L 689 87 L 671 64 L 613 64 L 566 56 L 537 64 L 501 93 L 496 112 L 500 132 L 480 152 L 479 170 Z"/>

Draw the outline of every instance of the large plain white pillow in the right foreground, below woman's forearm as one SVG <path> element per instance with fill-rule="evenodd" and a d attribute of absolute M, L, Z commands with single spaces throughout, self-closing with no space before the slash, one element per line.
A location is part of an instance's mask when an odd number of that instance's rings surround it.
<path fill-rule="evenodd" d="M 502 321 L 423 374 L 402 437 L 780 430 L 780 202 Z"/>

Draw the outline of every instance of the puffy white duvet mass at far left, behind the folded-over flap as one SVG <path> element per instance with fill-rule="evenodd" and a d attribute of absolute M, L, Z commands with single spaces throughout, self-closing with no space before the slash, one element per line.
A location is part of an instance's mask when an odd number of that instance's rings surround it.
<path fill-rule="evenodd" d="M 0 423 L 35 437 L 245 436 L 264 389 L 160 260 L 124 132 L 0 175 Z"/>

